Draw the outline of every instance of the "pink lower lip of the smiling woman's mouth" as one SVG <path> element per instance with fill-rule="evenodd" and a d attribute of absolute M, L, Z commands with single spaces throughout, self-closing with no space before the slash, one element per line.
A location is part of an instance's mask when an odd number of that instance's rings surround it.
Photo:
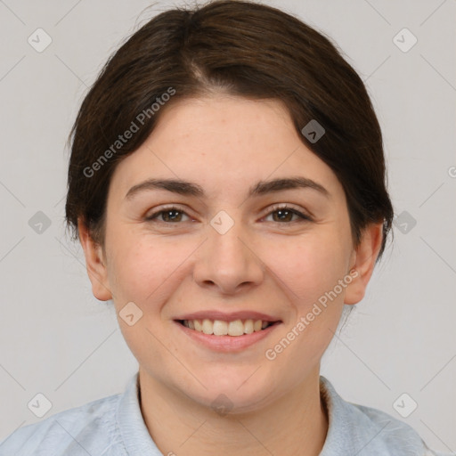
<path fill-rule="evenodd" d="M 243 336 L 214 336 L 213 334 L 204 334 L 204 332 L 191 330 L 179 322 L 175 322 L 175 324 L 193 340 L 218 352 L 236 352 L 243 350 L 248 346 L 252 346 L 259 340 L 266 338 L 280 325 L 280 323 L 274 323 L 265 330 L 255 331 L 250 334 L 244 334 Z"/>

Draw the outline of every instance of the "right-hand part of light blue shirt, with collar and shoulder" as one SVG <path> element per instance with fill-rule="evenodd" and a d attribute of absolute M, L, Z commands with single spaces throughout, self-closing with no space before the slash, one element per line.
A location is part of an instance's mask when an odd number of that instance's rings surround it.
<path fill-rule="evenodd" d="M 347 452 L 359 456 L 445 456 L 430 450 L 402 420 L 385 411 L 346 402 L 324 377 L 321 393 L 330 419 L 328 451 L 322 455 L 337 454 L 333 451 L 342 443 Z"/>

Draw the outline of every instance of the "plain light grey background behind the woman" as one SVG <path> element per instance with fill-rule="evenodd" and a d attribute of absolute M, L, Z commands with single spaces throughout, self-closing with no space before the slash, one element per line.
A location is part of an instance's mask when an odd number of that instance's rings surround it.
<path fill-rule="evenodd" d="M 268 3 L 332 37 L 366 81 L 402 214 L 394 247 L 325 354 L 322 374 L 346 400 L 387 411 L 436 450 L 454 452 L 456 1 Z M 48 417 L 123 391 L 137 369 L 112 305 L 92 295 L 81 248 L 65 237 L 65 141 L 118 42 L 182 3 L 142 12 L 150 4 L 0 1 L 0 439 L 39 420 L 27 406 L 37 393 L 53 404 Z M 53 40 L 42 53 L 28 44 L 37 28 Z M 393 39 L 403 28 L 418 39 L 406 53 Z M 29 224 L 38 211 L 51 222 L 41 232 Z M 407 418 L 393 407 L 403 393 L 418 403 Z"/>

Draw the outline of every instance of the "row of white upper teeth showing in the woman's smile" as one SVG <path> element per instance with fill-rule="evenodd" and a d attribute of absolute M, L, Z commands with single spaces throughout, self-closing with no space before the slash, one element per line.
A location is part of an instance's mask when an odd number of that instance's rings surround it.
<path fill-rule="evenodd" d="M 223 320 L 209 320 L 205 318 L 201 320 L 184 320 L 183 326 L 191 330 L 197 330 L 204 334 L 214 336 L 243 336 L 244 334 L 251 334 L 252 332 L 265 330 L 270 322 L 263 322 L 261 320 L 234 320 L 233 322 L 224 322 Z"/>

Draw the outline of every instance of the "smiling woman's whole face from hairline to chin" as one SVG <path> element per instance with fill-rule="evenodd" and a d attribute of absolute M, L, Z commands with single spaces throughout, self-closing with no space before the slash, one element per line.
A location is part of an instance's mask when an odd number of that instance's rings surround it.
<path fill-rule="evenodd" d="M 280 102 L 220 95 L 160 114 L 112 176 L 94 294 L 113 297 L 144 381 L 255 410 L 318 376 L 344 300 L 363 293 L 345 193 Z"/>

